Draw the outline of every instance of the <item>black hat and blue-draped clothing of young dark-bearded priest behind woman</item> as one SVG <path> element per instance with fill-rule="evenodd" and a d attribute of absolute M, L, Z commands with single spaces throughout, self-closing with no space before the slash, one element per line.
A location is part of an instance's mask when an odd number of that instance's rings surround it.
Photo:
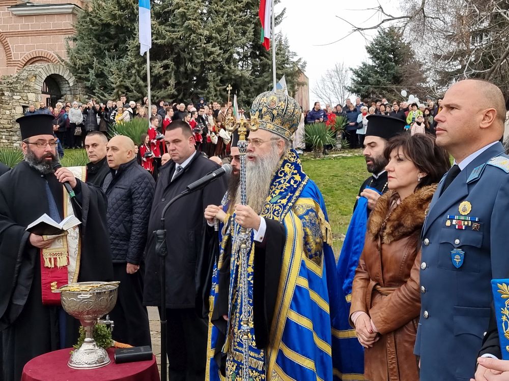
<path fill-rule="evenodd" d="M 401 134 L 405 122 L 385 115 L 368 115 L 366 136 L 378 136 L 382 139 Z M 337 261 L 338 317 L 335 328 L 341 335 L 334 336 L 342 348 L 342 374 L 349 375 L 352 380 L 363 379 L 364 350 L 357 340 L 355 330 L 350 327 L 349 315 L 352 299 L 352 282 L 359 257 L 364 247 L 367 217 L 370 210 L 367 208 L 367 199 L 360 197 L 364 189 L 372 189 L 379 194 L 385 193 L 387 188 L 387 172 L 385 170 L 368 177 L 359 189 L 359 199 L 355 202 L 354 212 L 350 219 L 341 255 Z"/>

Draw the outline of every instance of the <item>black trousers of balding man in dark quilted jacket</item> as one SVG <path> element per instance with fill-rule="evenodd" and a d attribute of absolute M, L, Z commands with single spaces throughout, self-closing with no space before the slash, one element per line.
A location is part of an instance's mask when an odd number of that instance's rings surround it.
<path fill-rule="evenodd" d="M 114 263 L 113 275 L 120 281 L 117 304 L 109 313 L 114 323 L 112 338 L 133 346 L 151 345 L 149 315 L 143 305 L 143 268 L 126 272 L 126 263 Z"/>

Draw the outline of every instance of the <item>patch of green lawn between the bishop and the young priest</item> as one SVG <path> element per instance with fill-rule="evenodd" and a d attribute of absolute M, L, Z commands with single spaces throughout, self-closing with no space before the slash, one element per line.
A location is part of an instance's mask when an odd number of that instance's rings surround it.
<path fill-rule="evenodd" d="M 352 150 L 347 153 L 352 156 L 313 160 L 306 155 L 302 159 L 304 172 L 316 182 L 325 199 L 336 257 L 341 251 L 359 187 L 369 176 L 361 151 Z"/>

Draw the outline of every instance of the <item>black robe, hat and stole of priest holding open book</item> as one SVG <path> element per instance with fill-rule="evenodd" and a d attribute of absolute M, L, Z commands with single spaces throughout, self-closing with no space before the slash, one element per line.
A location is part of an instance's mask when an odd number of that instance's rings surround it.
<path fill-rule="evenodd" d="M 32 115 L 16 121 L 23 140 L 52 135 L 51 116 Z M 0 177 L 3 381 L 19 380 L 29 360 L 76 343 L 79 322 L 64 312 L 60 294 L 52 289 L 75 281 L 112 278 L 106 200 L 98 188 L 84 182 L 84 168 L 70 169 L 77 177 L 74 192 L 81 210 L 53 173 L 41 174 L 25 161 Z M 25 229 L 44 213 L 58 222 L 74 214 L 81 224 L 49 249 L 38 249 L 30 244 Z"/>

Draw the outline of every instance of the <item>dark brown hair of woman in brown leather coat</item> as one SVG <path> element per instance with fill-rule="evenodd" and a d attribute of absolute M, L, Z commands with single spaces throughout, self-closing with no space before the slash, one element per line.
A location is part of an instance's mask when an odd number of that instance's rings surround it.
<path fill-rule="evenodd" d="M 401 134 L 390 139 L 383 155 L 389 161 L 392 151 L 401 148 L 403 154 L 421 172 L 428 175 L 417 184 L 416 189 L 438 183 L 450 168 L 449 154 L 435 143 L 435 137 L 429 134 Z"/>

